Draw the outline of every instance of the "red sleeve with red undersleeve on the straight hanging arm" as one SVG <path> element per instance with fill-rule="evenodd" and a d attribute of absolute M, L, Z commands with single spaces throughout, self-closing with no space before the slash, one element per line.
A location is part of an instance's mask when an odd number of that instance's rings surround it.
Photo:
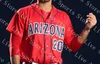
<path fill-rule="evenodd" d="M 21 10 L 18 10 L 6 28 L 10 32 L 9 50 L 11 56 L 20 54 L 20 44 L 24 32 L 24 21 L 21 13 Z"/>

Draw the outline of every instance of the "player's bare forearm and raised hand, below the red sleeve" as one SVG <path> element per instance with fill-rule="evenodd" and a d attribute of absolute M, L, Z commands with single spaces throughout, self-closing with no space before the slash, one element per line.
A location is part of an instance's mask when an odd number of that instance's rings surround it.
<path fill-rule="evenodd" d="M 97 20 L 96 20 L 96 17 L 95 15 L 93 15 L 93 13 L 89 13 L 89 15 L 87 15 L 87 19 L 86 19 L 86 26 L 85 28 L 83 29 L 82 33 L 78 36 L 78 41 L 80 43 L 84 43 L 91 28 L 96 25 L 97 23 Z"/>

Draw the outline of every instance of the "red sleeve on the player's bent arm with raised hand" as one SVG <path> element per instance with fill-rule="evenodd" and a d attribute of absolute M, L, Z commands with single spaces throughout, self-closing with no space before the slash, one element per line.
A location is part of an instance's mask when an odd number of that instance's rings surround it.
<path fill-rule="evenodd" d="M 78 41 L 78 36 L 75 36 L 71 20 L 67 14 L 64 16 L 64 21 L 66 24 L 64 42 L 72 52 L 76 52 L 82 46 L 82 43 Z"/>

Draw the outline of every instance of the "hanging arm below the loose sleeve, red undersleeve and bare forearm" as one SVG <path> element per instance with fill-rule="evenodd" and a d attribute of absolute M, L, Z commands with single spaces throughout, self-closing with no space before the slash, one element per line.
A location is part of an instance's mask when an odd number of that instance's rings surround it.
<path fill-rule="evenodd" d="M 20 44 L 21 38 L 10 33 L 10 62 L 11 64 L 20 64 Z"/>

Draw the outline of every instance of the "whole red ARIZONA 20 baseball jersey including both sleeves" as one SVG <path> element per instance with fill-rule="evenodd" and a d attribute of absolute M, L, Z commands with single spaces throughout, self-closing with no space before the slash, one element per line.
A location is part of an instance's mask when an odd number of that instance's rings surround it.
<path fill-rule="evenodd" d="M 10 55 L 24 62 L 62 63 L 65 43 L 73 52 L 81 47 L 69 16 L 52 6 L 46 12 L 35 3 L 20 8 L 6 28 L 10 33 Z"/>

